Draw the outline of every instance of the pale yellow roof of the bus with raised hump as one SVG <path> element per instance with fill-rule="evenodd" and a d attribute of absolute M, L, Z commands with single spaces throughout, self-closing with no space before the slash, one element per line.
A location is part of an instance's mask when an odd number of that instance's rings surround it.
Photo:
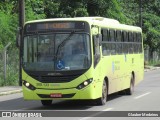
<path fill-rule="evenodd" d="M 90 25 L 97 25 L 102 28 L 142 32 L 142 29 L 140 27 L 121 24 L 118 20 L 104 18 L 104 17 L 50 18 L 50 19 L 40 19 L 40 20 L 28 21 L 26 22 L 26 24 L 27 23 L 37 23 L 37 22 L 50 22 L 50 21 L 86 21 Z"/>

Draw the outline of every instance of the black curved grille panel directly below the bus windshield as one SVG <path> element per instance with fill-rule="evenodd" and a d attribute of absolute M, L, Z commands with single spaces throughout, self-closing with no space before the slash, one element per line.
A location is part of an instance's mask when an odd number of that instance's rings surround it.
<path fill-rule="evenodd" d="M 79 75 L 72 75 L 72 76 L 32 76 L 34 79 L 36 79 L 39 82 L 42 83 L 65 83 L 70 82 Z"/>

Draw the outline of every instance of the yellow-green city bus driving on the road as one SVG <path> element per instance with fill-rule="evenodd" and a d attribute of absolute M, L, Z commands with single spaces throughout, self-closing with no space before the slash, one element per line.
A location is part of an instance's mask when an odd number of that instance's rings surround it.
<path fill-rule="evenodd" d="M 131 95 L 144 76 L 140 27 L 103 17 L 26 22 L 21 41 L 25 100 L 93 100 Z"/>

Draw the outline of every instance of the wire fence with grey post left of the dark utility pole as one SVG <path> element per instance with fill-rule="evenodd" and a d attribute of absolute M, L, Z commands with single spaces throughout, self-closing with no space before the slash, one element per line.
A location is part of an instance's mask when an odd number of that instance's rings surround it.
<path fill-rule="evenodd" d="M 0 51 L 0 86 L 18 85 L 19 57 L 18 49 Z"/>

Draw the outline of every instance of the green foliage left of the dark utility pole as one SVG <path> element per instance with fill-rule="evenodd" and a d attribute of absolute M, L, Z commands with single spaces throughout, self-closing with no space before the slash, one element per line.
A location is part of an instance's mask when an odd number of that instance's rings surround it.
<path fill-rule="evenodd" d="M 16 29 L 18 26 L 18 15 L 15 13 L 14 1 L 0 2 L 0 86 L 14 85 L 17 83 L 18 73 L 12 63 L 7 64 L 7 79 L 4 82 L 4 59 L 3 49 L 11 42 L 9 51 L 17 50 L 15 46 Z M 7 51 L 8 53 L 8 51 Z M 18 54 L 13 54 L 14 58 L 18 58 Z M 15 59 L 11 59 L 11 61 Z M 18 60 L 15 60 L 15 65 L 18 65 Z"/>

